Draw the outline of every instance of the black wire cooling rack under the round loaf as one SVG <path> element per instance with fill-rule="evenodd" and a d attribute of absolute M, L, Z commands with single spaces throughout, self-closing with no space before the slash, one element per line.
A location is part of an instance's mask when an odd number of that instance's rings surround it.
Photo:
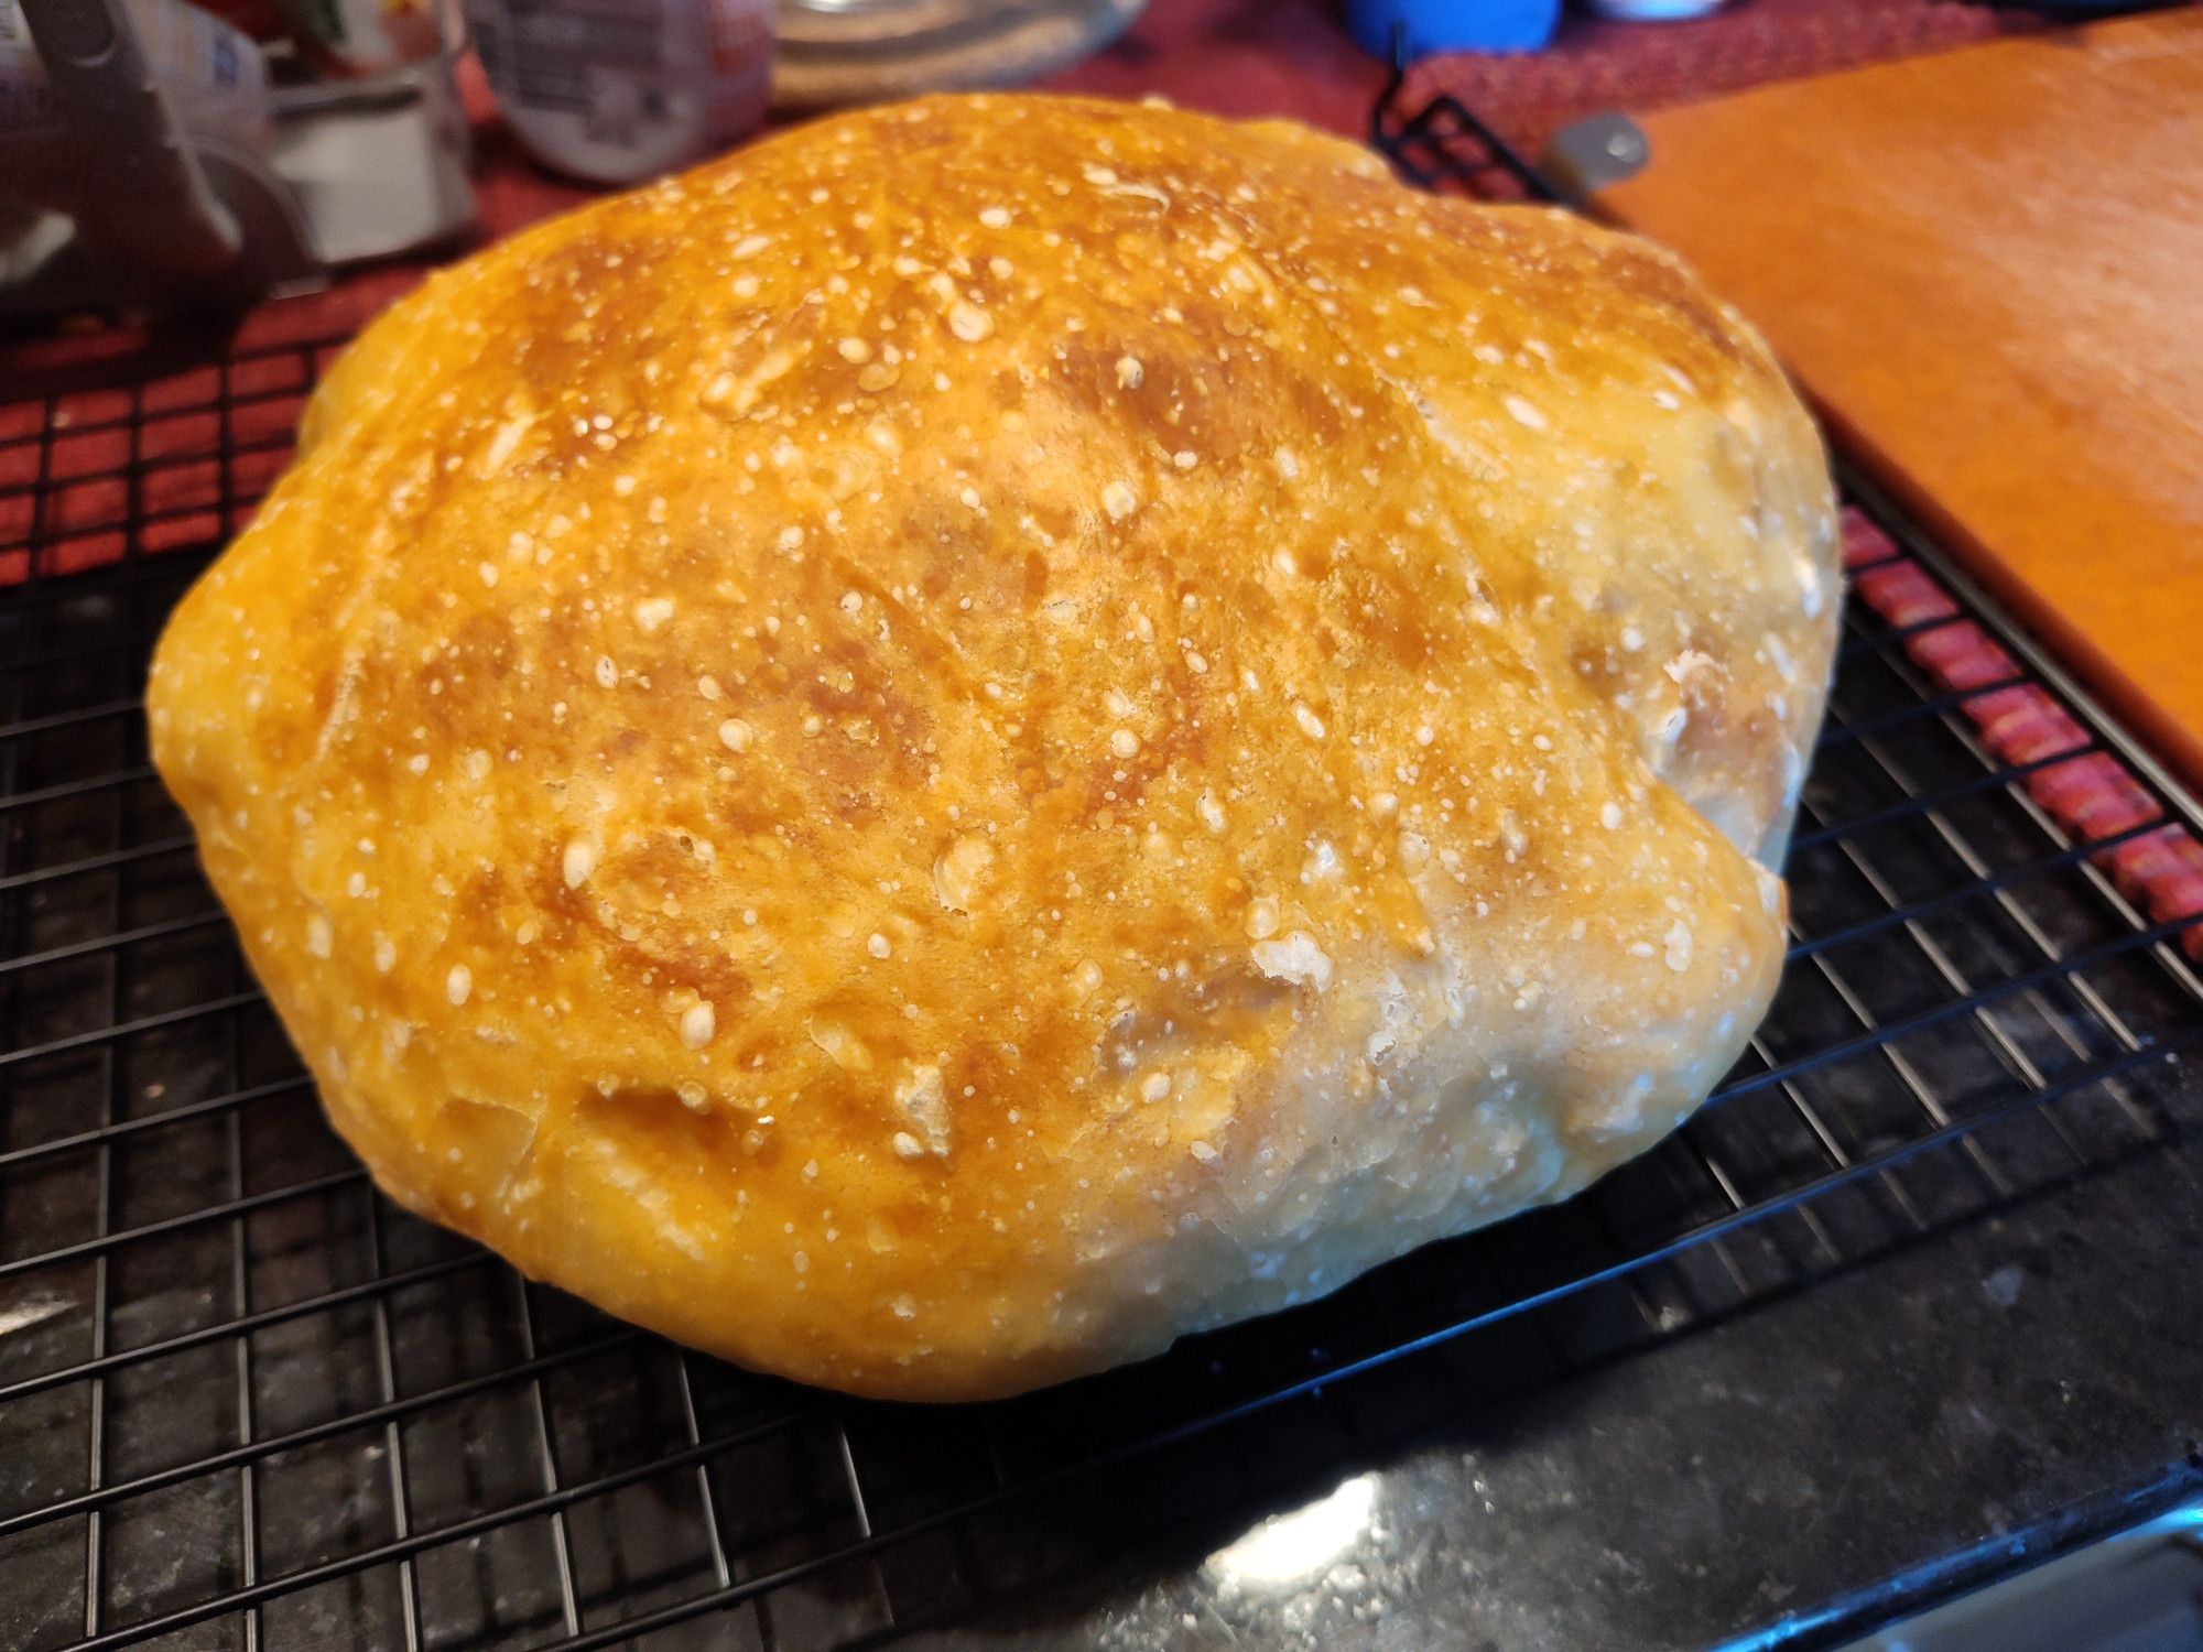
<path fill-rule="evenodd" d="M 1425 178 L 1480 141 L 1452 115 L 1390 137 Z M 1476 165 L 1522 192 L 1502 152 Z M 2181 925 L 2029 797 L 2040 764 L 1992 756 L 1912 628 L 1853 604 L 1776 1011 L 1588 1194 L 998 1405 L 842 1401 L 619 1326 L 372 1192 L 145 764 L 161 619 L 339 344 L 0 405 L 0 1648 L 877 1643 L 1062 1566 L 1084 1540 L 1040 1507 L 1198 1509 L 1280 1456 L 1359 1460 L 2192 1117 Z M 2082 749 L 2196 819 L 1866 504 Z"/>

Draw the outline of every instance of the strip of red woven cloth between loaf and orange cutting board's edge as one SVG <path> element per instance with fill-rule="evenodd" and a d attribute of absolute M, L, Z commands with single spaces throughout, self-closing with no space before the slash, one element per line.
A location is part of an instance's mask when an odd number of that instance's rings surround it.
<path fill-rule="evenodd" d="M 1892 559 L 1895 557 L 1895 559 Z M 2082 844 L 2115 839 L 2163 819 L 2150 797 L 2108 751 L 2080 751 L 2088 731 L 2036 683 L 2011 683 L 2025 667 L 1976 626 L 1912 557 L 1857 511 L 1844 511 L 1844 564 L 1859 568 L 1853 586 L 1892 628 L 1923 626 L 1903 641 L 1906 654 L 1945 692 L 1980 687 L 1961 709 L 1980 729 L 1983 745 L 2016 767 L 2044 764 L 2025 778 L 2027 795 Z M 1873 566 L 1868 566 L 1873 564 Z M 1934 621 L 1950 623 L 1936 626 Z M 2003 683 L 2005 687 L 1994 687 Z M 2058 762 L 2058 753 L 2077 756 Z M 2093 857 L 2115 888 L 2152 923 L 2177 923 L 2203 912 L 2203 844 L 2185 826 L 2124 837 Z M 2203 927 L 2181 936 L 2188 956 L 2203 960 Z"/>

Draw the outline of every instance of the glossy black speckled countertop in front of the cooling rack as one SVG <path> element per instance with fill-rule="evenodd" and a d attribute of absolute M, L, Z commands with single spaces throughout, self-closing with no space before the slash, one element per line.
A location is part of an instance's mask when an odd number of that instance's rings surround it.
<path fill-rule="evenodd" d="M 1223 1469 L 1198 1513 L 1209 1469 L 1042 1511 L 1029 1542 L 1113 1557 L 897 1645 L 1694 1652 L 1980 1544 L 2005 1568 L 2077 1500 L 2141 1518 L 2183 1478 L 2194 1496 L 2185 1108 L 2183 1145 L 1518 1399 L 1456 1403 L 1428 1363 L 1348 1383 L 1328 1423 L 1278 1419 L 1231 1454 L 1322 1456 L 1311 1436 L 1342 1425 L 1324 1469 L 1256 1493 Z M 1439 1416 L 1388 1425 L 1414 1412 Z"/>

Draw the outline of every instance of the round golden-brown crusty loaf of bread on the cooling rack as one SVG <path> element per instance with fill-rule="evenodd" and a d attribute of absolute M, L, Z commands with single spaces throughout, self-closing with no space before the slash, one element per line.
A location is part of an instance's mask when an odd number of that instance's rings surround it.
<path fill-rule="evenodd" d="M 390 1196 L 961 1399 L 1685 1117 L 1773 991 L 1837 595 L 1813 425 L 1670 256 L 967 97 L 397 304 L 150 716 Z"/>

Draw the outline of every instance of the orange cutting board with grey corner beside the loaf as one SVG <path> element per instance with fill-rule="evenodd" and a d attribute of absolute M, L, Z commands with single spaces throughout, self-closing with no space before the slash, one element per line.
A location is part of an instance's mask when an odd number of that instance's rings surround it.
<path fill-rule="evenodd" d="M 1758 322 L 1837 445 L 2203 780 L 2203 11 L 1639 123 L 1597 209 Z"/>

